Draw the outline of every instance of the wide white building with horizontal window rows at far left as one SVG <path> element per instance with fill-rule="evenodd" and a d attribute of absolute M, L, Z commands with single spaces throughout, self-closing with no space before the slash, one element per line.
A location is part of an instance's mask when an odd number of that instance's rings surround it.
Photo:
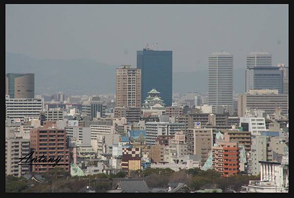
<path fill-rule="evenodd" d="M 6 119 L 17 119 L 24 122 L 25 118 L 39 118 L 39 114 L 43 109 L 43 99 L 10 98 L 9 95 L 5 95 Z"/>

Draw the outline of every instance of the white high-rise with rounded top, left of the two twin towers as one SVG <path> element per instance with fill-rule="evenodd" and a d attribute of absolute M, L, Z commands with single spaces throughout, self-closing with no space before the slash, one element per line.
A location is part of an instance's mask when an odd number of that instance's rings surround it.
<path fill-rule="evenodd" d="M 208 57 L 208 102 L 233 105 L 233 55 L 214 52 Z"/>

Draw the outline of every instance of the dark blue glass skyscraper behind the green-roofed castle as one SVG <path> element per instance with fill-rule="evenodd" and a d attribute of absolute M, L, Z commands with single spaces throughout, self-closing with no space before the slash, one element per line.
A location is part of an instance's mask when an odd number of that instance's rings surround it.
<path fill-rule="evenodd" d="M 167 106 L 172 106 L 172 51 L 143 49 L 137 51 L 137 68 L 141 69 L 141 101 L 155 88 Z"/>

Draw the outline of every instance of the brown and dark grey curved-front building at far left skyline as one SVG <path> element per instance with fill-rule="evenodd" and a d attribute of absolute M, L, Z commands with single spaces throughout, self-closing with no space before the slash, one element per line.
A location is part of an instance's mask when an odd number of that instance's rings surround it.
<path fill-rule="evenodd" d="M 35 98 L 33 73 L 7 73 L 8 95 L 10 98 Z"/>

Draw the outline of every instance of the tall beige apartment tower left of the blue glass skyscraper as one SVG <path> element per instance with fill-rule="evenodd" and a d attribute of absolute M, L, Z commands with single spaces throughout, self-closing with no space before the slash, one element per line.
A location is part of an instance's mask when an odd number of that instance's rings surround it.
<path fill-rule="evenodd" d="M 141 108 L 141 69 L 130 65 L 116 69 L 116 107 Z"/>

